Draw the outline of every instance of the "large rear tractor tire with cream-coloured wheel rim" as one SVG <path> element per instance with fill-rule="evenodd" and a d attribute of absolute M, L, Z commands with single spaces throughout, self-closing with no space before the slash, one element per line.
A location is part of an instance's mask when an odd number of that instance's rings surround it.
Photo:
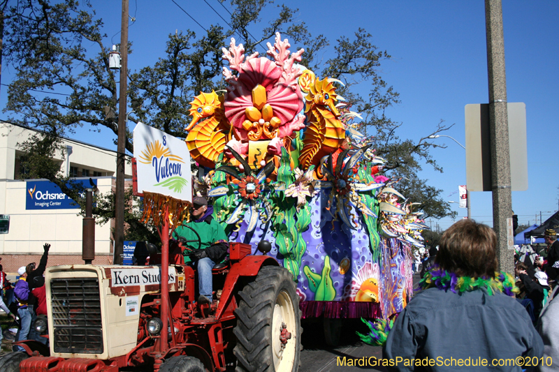
<path fill-rule="evenodd" d="M 265 266 L 239 293 L 236 371 L 296 372 L 300 362 L 300 310 L 293 276 L 287 269 Z M 291 334 L 284 332 L 282 324 Z"/>

